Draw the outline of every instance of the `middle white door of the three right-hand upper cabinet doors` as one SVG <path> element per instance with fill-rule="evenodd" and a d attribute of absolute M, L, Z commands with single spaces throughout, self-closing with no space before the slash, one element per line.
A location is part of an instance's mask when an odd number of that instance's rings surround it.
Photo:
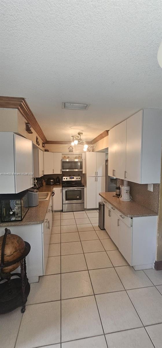
<path fill-rule="evenodd" d="M 115 128 L 115 176 L 119 179 L 125 179 L 126 171 L 126 132 L 127 121 L 121 122 Z"/>

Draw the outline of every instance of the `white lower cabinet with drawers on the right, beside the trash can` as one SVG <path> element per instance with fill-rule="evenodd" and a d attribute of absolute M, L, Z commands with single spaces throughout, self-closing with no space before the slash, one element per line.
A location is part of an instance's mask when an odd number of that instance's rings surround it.
<path fill-rule="evenodd" d="M 127 217 L 105 203 L 105 230 L 135 270 L 154 267 L 158 216 Z"/>

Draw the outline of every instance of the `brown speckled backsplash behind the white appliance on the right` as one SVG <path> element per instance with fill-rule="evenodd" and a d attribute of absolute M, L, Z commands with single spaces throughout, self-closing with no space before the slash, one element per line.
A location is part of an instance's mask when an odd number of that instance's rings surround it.
<path fill-rule="evenodd" d="M 123 180 L 119 180 L 119 184 L 123 185 Z M 137 184 L 128 181 L 128 185 L 130 186 L 131 197 L 136 203 L 139 203 L 154 212 L 158 212 L 160 184 L 153 184 L 153 192 L 147 190 L 147 184 Z"/>

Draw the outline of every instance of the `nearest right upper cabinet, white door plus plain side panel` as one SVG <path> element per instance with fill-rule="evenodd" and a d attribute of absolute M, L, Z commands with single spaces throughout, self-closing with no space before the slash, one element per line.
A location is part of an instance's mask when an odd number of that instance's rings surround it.
<path fill-rule="evenodd" d="M 160 183 L 162 111 L 144 109 L 127 119 L 126 179 Z"/>

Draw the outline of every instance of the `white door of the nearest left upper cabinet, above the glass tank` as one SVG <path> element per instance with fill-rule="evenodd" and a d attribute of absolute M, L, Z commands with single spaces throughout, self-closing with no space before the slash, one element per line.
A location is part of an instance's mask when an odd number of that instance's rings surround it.
<path fill-rule="evenodd" d="M 14 134 L 15 172 L 31 173 L 15 175 L 15 193 L 24 191 L 33 186 L 33 148 L 32 141 Z"/>

